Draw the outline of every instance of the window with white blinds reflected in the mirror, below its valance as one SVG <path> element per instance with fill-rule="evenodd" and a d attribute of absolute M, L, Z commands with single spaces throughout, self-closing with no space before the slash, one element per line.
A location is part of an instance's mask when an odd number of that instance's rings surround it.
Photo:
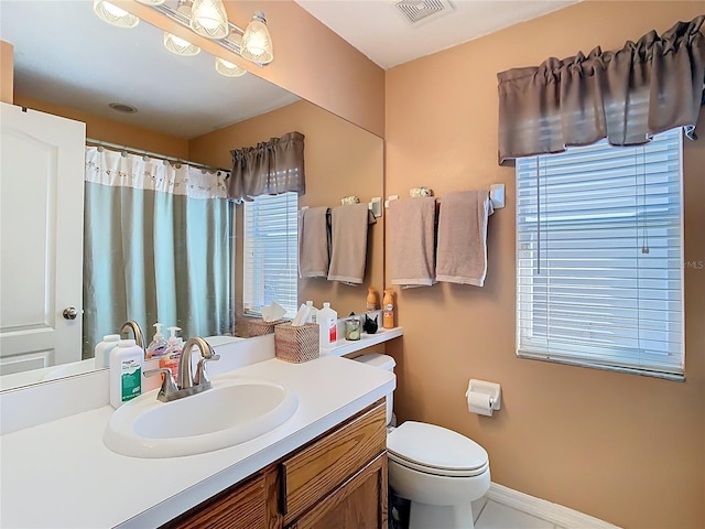
<path fill-rule="evenodd" d="M 260 195 L 245 203 L 246 314 L 275 301 L 293 317 L 299 309 L 297 195 Z"/>

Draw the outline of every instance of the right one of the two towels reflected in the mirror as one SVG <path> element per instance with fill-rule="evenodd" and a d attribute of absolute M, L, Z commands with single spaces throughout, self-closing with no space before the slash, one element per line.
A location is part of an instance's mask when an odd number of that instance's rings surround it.
<path fill-rule="evenodd" d="M 367 226 L 377 219 L 367 204 L 351 204 L 330 210 L 329 281 L 360 284 L 367 262 Z"/>

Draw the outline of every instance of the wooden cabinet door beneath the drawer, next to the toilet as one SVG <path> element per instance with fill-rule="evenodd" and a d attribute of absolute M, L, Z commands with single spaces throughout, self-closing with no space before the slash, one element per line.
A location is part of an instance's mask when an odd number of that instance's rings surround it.
<path fill-rule="evenodd" d="M 387 453 L 383 453 L 288 529 L 383 529 L 386 527 Z"/>

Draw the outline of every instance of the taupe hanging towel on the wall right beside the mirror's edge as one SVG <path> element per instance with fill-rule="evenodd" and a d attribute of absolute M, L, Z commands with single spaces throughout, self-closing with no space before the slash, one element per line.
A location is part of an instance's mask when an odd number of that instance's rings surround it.
<path fill-rule="evenodd" d="M 436 199 L 427 196 L 391 201 L 387 215 L 392 284 L 435 283 Z"/>

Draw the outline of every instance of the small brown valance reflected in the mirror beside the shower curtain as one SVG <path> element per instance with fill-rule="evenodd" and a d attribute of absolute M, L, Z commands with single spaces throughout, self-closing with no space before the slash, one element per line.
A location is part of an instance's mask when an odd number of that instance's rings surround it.
<path fill-rule="evenodd" d="M 304 134 L 289 132 L 256 147 L 230 151 L 232 173 L 226 181 L 228 198 L 251 201 L 259 195 L 306 192 Z"/>

